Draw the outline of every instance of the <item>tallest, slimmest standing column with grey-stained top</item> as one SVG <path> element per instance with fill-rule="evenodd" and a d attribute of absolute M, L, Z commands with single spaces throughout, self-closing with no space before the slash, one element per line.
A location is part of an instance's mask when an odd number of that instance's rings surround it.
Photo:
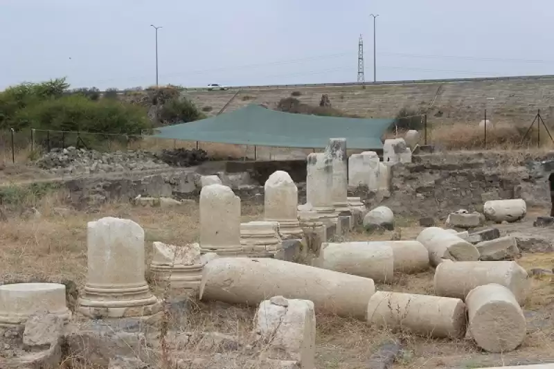
<path fill-rule="evenodd" d="M 332 161 L 331 197 L 337 212 L 350 211 L 348 207 L 348 156 L 346 155 L 346 138 L 330 138 L 325 154 Z"/>

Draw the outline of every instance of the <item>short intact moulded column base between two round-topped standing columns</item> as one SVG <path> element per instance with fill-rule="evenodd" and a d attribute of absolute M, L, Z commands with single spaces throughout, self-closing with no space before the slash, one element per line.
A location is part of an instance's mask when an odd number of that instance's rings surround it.
<path fill-rule="evenodd" d="M 248 222 L 240 224 L 240 244 L 244 253 L 276 253 L 283 248 L 278 222 Z"/>

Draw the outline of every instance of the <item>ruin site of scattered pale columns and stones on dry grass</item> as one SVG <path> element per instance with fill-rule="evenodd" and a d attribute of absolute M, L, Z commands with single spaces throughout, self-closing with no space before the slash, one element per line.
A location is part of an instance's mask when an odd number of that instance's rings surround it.
<path fill-rule="evenodd" d="M 0 369 L 554 369 L 554 152 L 359 132 L 0 162 Z"/>

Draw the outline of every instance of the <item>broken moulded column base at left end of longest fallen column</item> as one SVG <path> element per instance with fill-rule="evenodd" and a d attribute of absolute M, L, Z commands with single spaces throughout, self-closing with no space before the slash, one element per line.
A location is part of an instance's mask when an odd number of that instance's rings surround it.
<path fill-rule="evenodd" d="M 152 251 L 150 271 L 154 280 L 161 285 L 168 283 L 171 288 L 198 291 L 205 264 L 200 255 L 199 244 L 178 247 L 154 242 Z"/>

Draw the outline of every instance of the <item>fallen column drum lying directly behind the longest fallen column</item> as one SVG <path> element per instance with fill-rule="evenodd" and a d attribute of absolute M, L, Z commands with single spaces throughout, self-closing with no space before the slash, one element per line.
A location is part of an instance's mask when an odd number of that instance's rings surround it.
<path fill-rule="evenodd" d="M 390 283 L 394 273 L 393 249 L 384 242 L 324 243 L 316 266 Z"/>

